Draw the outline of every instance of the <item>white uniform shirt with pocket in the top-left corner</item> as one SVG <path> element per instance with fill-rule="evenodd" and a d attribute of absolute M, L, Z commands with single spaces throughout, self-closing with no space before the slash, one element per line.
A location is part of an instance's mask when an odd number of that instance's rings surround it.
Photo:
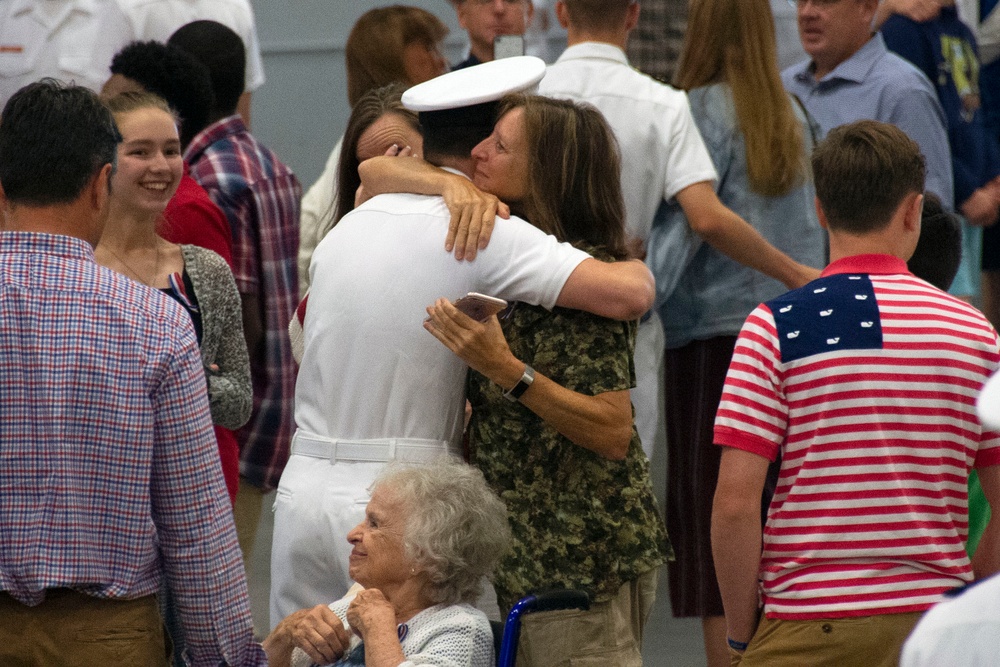
<path fill-rule="evenodd" d="M 127 25 L 111 0 L 0 0 L 0 108 L 44 77 L 100 90 L 114 55 L 105 27 Z"/>

